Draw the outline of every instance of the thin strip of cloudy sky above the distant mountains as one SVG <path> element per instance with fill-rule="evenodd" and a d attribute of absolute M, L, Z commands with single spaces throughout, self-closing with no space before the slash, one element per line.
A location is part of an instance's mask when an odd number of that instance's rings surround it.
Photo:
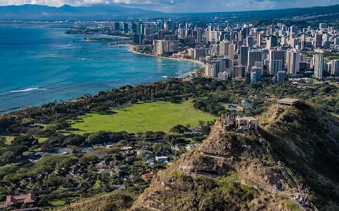
<path fill-rule="evenodd" d="M 195 13 L 219 11 L 254 11 L 264 9 L 330 6 L 339 0 L 0 0 L 0 6 L 40 4 L 47 6 L 90 6 L 117 4 L 168 13 Z"/>

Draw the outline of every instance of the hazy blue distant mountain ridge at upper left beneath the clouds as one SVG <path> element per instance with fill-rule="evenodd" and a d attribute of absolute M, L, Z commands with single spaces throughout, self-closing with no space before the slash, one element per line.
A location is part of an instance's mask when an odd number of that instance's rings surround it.
<path fill-rule="evenodd" d="M 0 6 L 0 20 L 10 19 L 38 19 L 38 18 L 83 18 L 102 15 L 142 15 L 162 14 L 159 11 L 147 11 L 141 8 L 128 8 L 115 4 L 97 4 L 93 6 L 61 7 L 25 4 L 21 6 Z"/>

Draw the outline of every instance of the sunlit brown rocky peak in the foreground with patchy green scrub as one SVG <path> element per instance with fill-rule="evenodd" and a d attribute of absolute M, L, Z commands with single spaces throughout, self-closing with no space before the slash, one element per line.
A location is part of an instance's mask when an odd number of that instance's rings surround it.
<path fill-rule="evenodd" d="M 197 150 L 157 174 L 131 210 L 297 210 L 281 195 L 234 182 L 279 184 L 283 177 L 263 154 L 250 136 L 223 132 L 216 123 Z"/>

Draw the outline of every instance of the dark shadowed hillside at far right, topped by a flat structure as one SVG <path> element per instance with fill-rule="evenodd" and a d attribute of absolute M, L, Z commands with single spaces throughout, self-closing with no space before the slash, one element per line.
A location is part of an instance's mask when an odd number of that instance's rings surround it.
<path fill-rule="evenodd" d="M 285 111 L 277 114 L 278 108 Z M 339 210 L 339 119 L 309 103 L 272 106 L 259 117 L 261 134 L 298 173 L 320 210 Z"/>

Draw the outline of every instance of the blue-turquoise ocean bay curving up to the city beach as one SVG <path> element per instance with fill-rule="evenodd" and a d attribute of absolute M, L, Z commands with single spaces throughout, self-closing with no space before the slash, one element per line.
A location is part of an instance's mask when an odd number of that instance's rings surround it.
<path fill-rule="evenodd" d="M 48 26 L 0 25 L 0 110 L 72 100 L 126 84 L 176 77 L 198 64 L 131 53 L 128 47 L 81 41 Z"/>

